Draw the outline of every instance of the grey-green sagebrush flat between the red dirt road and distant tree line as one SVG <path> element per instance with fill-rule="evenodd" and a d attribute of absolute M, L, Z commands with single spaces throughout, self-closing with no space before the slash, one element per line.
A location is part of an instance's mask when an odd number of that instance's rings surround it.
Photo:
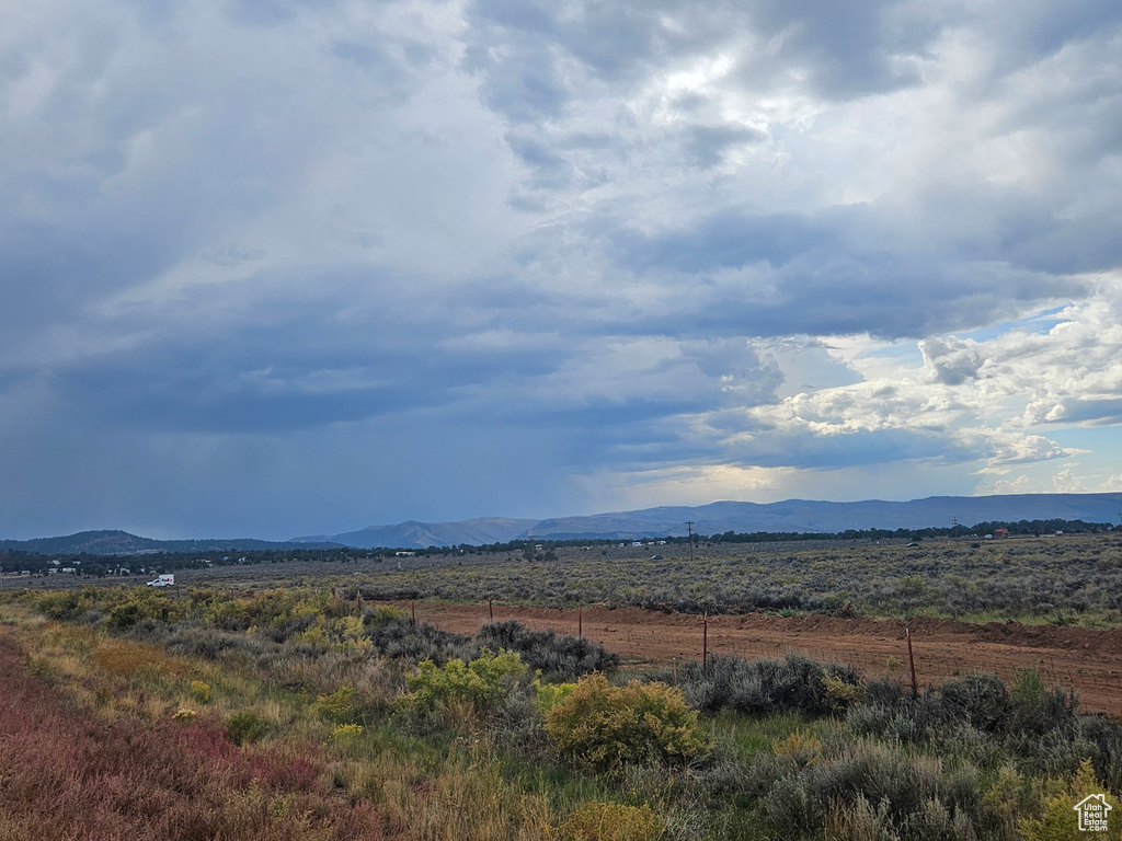
<path fill-rule="evenodd" d="M 136 561 L 154 569 L 158 563 L 158 556 Z M 533 558 L 471 551 L 348 563 L 274 557 L 177 571 L 177 581 L 263 586 L 335 575 L 350 576 L 365 598 L 378 600 L 495 599 L 505 604 L 650 607 L 699 614 L 774 611 L 1122 626 L 1118 535 L 940 539 L 917 546 L 902 540 L 701 543 L 692 562 L 684 545 L 629 544 L 563 546 Z M 122 580 L 6 576 L 3 585 L 40 589 L 94 582 Z"/>

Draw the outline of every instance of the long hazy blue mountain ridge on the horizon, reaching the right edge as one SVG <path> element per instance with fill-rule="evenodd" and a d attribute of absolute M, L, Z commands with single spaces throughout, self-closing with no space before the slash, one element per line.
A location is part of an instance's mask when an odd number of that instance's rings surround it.
<path fill-rule="evenodd" d="M 706 506 L 664 506 L 638 511 L 616 511 L 587 517 L 545 520 L 484 518 L 459 523 L 417 523 L 371 526 L 359 532 L 293 538 L 294 542 L 331 540 L 360 548 L 478 546 L 507 543 L 534 535 L 553 539 L 636 539 L 680 536 L 687 520 L 695 534 L 725 532 L 824 532 L 864 528 L 928 528 L 976 523 L 1082 519 L 1118 523 L 1122 493 L 1021 493 L 996 497 L 928 497 L 908 502 L 873 499 L 863 502 L 820 502 L 789 499 L 783 502 L 712 502 Z"/>

